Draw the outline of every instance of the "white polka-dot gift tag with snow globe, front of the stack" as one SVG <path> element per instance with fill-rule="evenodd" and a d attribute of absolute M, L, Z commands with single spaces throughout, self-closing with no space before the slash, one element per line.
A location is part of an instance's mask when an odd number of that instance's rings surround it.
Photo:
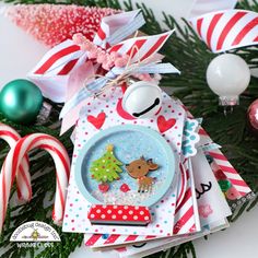
<path fill-rule="evenodd" d="M 156 134 L 159 133 L 160 137 L 163 137 L 163 140 L 166 142 L 166 144 L 169 145 L 171 150 L 173 151 L 173 155 L 175 157 L 174 173 L 175 175 L 177 175 L 179 173 L 178 164 L 179 154 L 181 153 L 183 128 L 186 117 L 185 110 L 179 102 L 176 102 L 165 93 L 162 93 L 162 106 L 156 115 L 154 115 L 152 118 L 136 119 L 125 112 L 121 105 L 121 99 L 122 91 L 120 89 L 110 90 L 101 95 L 97 99 L 94 99 L 93 102 L 89 101 L 89 103 L 82 110 L 82 117 L 79 120 L 77 127 L 77 140 L 71 172 L 72 175 L 70 178 L 70 187 L 68 189 L 68 203 L 66 208 L 63 231 L 104 234 L 115 233 L 132 235 L 172 235 L 174 224 L 173 214 L 175 213 L 175 202 L 177 196 L 176 181 L 171 185 L 169 189 L 166 189 L 166 192 L 164 191 L 160 195 L 159 201 L 159 198 L 156 198 L 156 196 L 159 195 L 155 195 L 156 199 L 154 199 L 154 201 L 150 201 L 153 198 L 146 198 L 149 195 L 149 180 L 152 180 L 153 189 L 155 189 L 156 187 L 157 194 L 157 186 L 160 184 L 162 185 L 163 179 L 163 176 L 159 176 L 159 173 L 164 169 L 164 175 L 166 175 L 165 171 L 167 164 L 169 164 L 169 159 L 161 159 L 161 156 L 167 155 L 166 151 L 164 151 L 165 149 L 167 149 L 167 146 L 164 149 L 165 143 L 160 144 L 159 140 L 155 140 L 155 137 L 149 138 L 148 141 L 146 138 L 149 134 L 144 136 L 143 133 L 142 141 L 144 144 L 140 144 L 141 141 L 139 140 L 139 136 L 137 136 L 139 132 L 133 136 L 133 133 L 130 131 L 128 133 L 127 131 L 120 131 L 120 129 L 118 129 L 120 132 L 110 134 L 107 133 L 108 136 L 106 137 L 105 130 L 108 128 L 114 128 L 115 126 L 136 125 L 155 131 Z M 104 137 L 99 136 L 98 133 L 104 133 Z M 97 137 L 97 134 L 99 137 L 99 140 L 96 140 L 96 144 L 94 143 L 92 145 L 93 149 L 91 149 L 91 144 L 89 144 L 90 151 L 86 151 L 86 155 L 87 153 L 90 153 L 90 163 L 87 164 L 87 162 L 82 162 L 86 167 L 84 173 L 91 174 L 93 175 L 93 177 L 86 176 L 82 179 L 82 184 L 78 184 L 79 180 L 77 180 L 77 175 L 80 174 L 82 178 L 82 168 L 84 171 L 84 166 L 81 166 L 80 168 L 80 166 L 77 165 L 78 161 L 80 163 L 80 160 L 83 161 L 85 156 L 85 153 L 83 152 L 83 145 L 89 143 L 90 140 L 94 137 Z M 108 145 L 106 143 L 113 145 L 113 154 L 108 154 L 108 150 L 105 150 L 105 148 L 107 148 Z M 152 149 L 154 145 L 156 145 L 156 143 L 159 144 L 156 153 L 154 153 Z M 132 148 L 130 148 L 130 144 Z M 91 150 L 93 151 L 91 152 Z M 81 154 L 82 157 L 80 157 Z M 143 155 L 142 159 L 141 155 Z M 103 172 L 101 172 L 99 174 L 98 171 L 95 171 L 95 168 L 101 168 L 101 171 L 104 169 L 102 166 L 99 167 L 99 161 L 104 156 L 106 156 L 107 159 L 109 157 L 110 161 L 115 161 L 109 164 L 112 167 L 116 168 L 113 175 L 107 175 L 105 174 L 106 172 L 104 174 Z M 116 157 L 116 160 L 113 160 L 113 157 Z M 87 159 L 85 161 L 87 161 Z M 120 165 L 120 163 L 122 163 L 122 165 Z M 108 167 L 106 167 L 109 165 L 105 163 L 103 166 L 105 166 L 106 169 L 109 169 Z M 77 169 L 77 167 L 79 167 L 79 169 Z M 148 168 L 148 171 L 150 172 L 150 176 L 145 174 L 145 168 L 142 171 L 142 167 Z M 151 176 L 152 173 L 153 177 Z M 124 175 L 125 178 L 128 179 L 124 180 Z M 130 178 L 128 177 L 128 175 L 130 175 Z M 140 177 L 138 177 L 138 175 L 140 175 Z M 138 178 L 138 180 L 133 179 L 136 177 Z M 114 226 L 108 225 L 110 219 L 113 219 L 109 218 L 106 224 L 93 225 L 87 219 L 87 214 L 92 208 L 93 200 L 91 198 L 87 198 L 89 196 L 85 195 L 84 190 L 82 190 L 83 187 L 85 188 L 85 191 L 93 194 L 94 199 L 97 199 L 98 203 L 105 204 L 104 198 L 107 198 L 108 202 L 112 201 L 112 204 L 118 206 L 120 203 L 126 207 L 126 203 L 133 206 L 150 204 L 150 215 L 152 216 L 151 223 L 149 223 L 148 226 Z M 136 192 L 138 190 L 140 191 L 139 194 L 143 196 L 142 199 L 145 199 L 145 203 L 143 200 L 139 203 L 134 203 L 133 200 L 129 200 L 130 198 L 128 196 L 130 196 L 130 191 L 131 194 L 138 194 Z M 118 192 L 119 195 L 116 196 L 116 194 Z M 136 199 L 137 198 L 134 198 L 134 200 Z M 153 204 L 154 202 L 155 204 Z M 118 209 L 117 212 L 122 212 L 122 210 L 120 211 Z M 119 215 L 121 215 L 122 219 L 122 216 L 128 218 L 128 214 Z M 98 218 L 98 221 L 99 219 L 102 218 Z M 134 218 L 134 221 L 138 221 L 138 219 Z M 129 220 L 125 219 L 125 223 L 127 223 L 127 221 Z M 114 223 L 114 221 L 112 221 L 112 223 Z"/>

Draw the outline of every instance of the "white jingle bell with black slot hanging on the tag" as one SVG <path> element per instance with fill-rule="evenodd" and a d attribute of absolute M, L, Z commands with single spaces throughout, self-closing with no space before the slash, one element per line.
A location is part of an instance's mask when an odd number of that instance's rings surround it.
<path fill-rule="evenodd" d="M 136 118 L 154 116 L 162 105 L 162 90 L 151 82 L 132 83 L 122 97 L 122 108 Z"/>

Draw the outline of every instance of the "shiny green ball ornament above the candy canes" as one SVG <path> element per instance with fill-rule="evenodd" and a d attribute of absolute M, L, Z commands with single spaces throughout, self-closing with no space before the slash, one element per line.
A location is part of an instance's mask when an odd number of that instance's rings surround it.
<path fill-rule="evenodd" d="M 35 121 L 42 106 L 40 90 L 24 79 L 9 82 L 0 93 L 0 112 L 16 124 L 28 125 Z"/>

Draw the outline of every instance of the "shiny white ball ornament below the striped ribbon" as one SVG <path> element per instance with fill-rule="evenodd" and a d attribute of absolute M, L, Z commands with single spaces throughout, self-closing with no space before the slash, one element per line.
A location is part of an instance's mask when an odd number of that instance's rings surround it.
<path fill-rule="evenodd" d="M 215 57 L 207 69 L 207 82 L 220 97 L 220 105 L 238 105 L 239 94 L 248 86 L 250 69 L 245 60 L 233 54 Z"/>

